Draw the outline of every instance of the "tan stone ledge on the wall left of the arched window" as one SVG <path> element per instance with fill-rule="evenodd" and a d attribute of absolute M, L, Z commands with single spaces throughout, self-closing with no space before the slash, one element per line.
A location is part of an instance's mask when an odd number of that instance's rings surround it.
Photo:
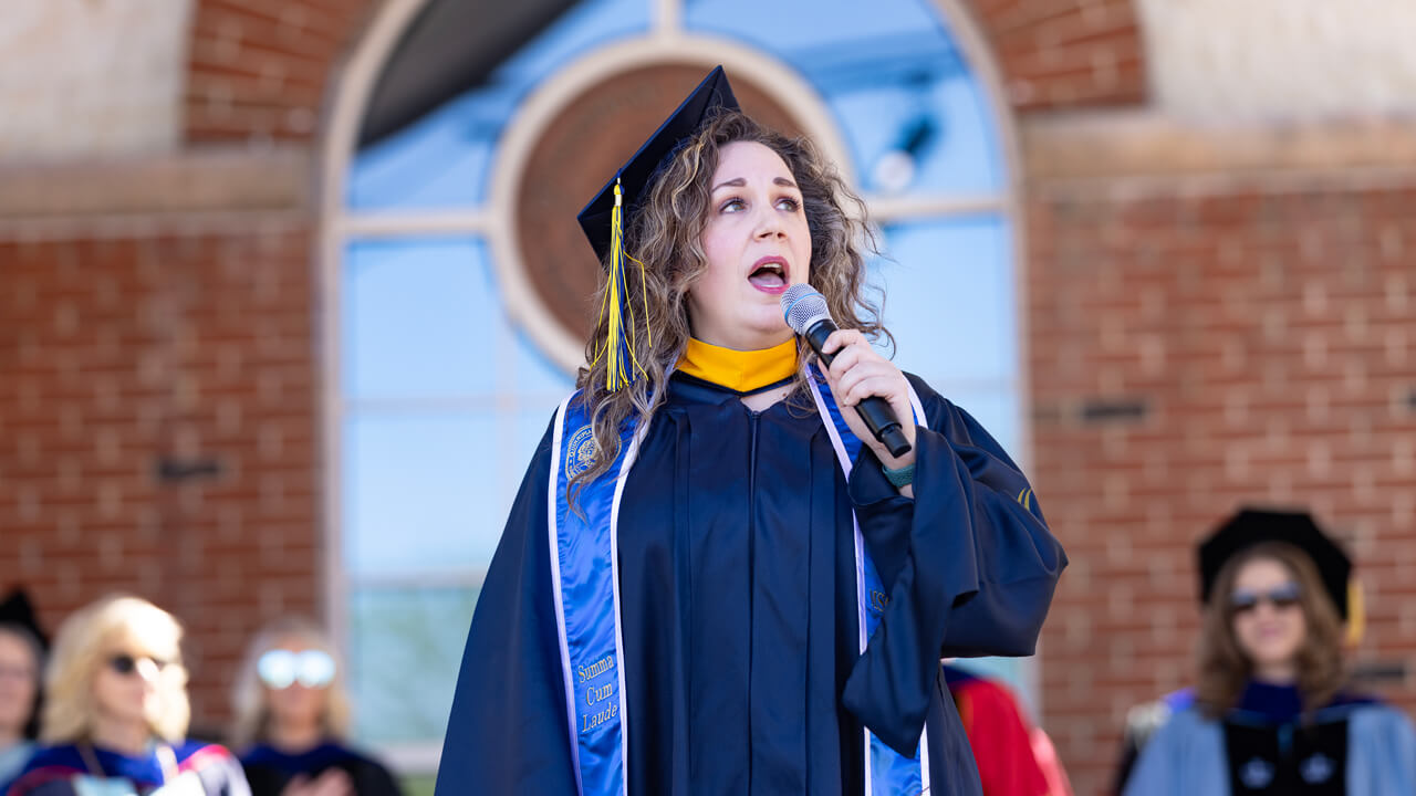
<path fill-rule="evenodd" d="M 304 147 L 195 149 L 92 163 L 0 164 L 0 220 L 309 210 Z"/>

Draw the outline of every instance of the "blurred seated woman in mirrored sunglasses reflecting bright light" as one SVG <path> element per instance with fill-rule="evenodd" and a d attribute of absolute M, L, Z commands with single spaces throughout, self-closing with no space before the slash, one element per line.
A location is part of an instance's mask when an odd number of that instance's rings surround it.
<path fill-rule="evenodd" d="M 251 642 L 234 688 L 231 745 L 252 796 L 399 796 L 382 763 L 348 746 L 350 700 L 329 636 L 290 618 Z"/>

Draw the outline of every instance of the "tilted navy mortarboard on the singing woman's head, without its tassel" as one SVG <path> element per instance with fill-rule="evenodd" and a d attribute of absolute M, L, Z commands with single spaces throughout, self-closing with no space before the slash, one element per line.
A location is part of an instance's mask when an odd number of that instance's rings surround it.
<path fill-rule="evenodd" d="M 595 248 L 595 256 L 602 263 L 609 259 L 612 245 L 615 181 L 620 183 L 624 211 L 633 210 L 660 169 L 678 152 L 678 147 L 722 109 L 736 110 L 738 99 L 732 95 L 732 86 L 728 85 L 728 75 L 724 74 L 722 67 L 716 67 L 576 215 L 581 229 L 585 231 L 590 246 Z"/>

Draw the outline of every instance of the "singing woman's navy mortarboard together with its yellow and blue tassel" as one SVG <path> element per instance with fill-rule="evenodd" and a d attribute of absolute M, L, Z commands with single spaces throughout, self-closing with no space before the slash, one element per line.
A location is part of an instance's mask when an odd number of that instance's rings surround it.
<path fill-rule="evenodd" d="M 722 67 L 714 68 L 576 215 L 595 256 L 607 272 L 609 285 L 600 306 L 600 320 L 609 317 L 609 340 L 596 351 L 595 361 L 609 358 L 606 388 L 612 392 L 633 382 L 636 374 L 644 371 L 634 351 L 634 309 L 624 276 L 624 214 L 634 211 L 660 171 L 708 120 L 722 110 L 736 109 L 738 98 L 732 95 L 728 75 Z M 643 271 L 644 263 L 637 265 Z M 644 314 L 649 314 L 647 306 Z"/>

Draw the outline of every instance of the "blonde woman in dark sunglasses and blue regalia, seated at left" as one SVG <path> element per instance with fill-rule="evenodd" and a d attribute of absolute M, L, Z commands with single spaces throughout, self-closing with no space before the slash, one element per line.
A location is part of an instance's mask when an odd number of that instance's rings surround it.
<path fill-rule="evenodd" d="M 135 596 L 59 627 L 45 669 L 40 748 L 7 796 L 249 796 L 225 748 L 184 741 L 191 708 L 181 626 Z"/>

